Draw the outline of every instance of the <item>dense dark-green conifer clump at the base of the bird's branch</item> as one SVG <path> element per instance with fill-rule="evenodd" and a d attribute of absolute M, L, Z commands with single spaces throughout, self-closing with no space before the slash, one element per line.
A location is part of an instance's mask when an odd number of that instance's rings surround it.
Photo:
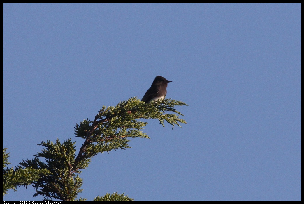
<path fill-rule="evenodd" d="M 41 177 L 38 181 L 33 182 L 36 189 L 35 196 L 42 195 L 46 197 L 60 199 L 65 201 L 73 201 L 79 192 L 82 185 L 82 179 L 75 173 L 81 173 L 79 169 L 73 168 L 75 162 L 75 142 L 71 139 L 64 141 L 62 144 L 57 139 L 56 143 L 51 141 L 41 142 L 39 145 L 45 149 L 41 153 L 34 155 L 35 159 L 26 160 L 20 164 L 25 167 L 33 167 L 34 169 L 46 168 L 50 174 Z M 39 157 L 44 158 L 46 163 L 40 161 Z M 88 166 L 90 161 L 86 161 L 85 166 Z"/>

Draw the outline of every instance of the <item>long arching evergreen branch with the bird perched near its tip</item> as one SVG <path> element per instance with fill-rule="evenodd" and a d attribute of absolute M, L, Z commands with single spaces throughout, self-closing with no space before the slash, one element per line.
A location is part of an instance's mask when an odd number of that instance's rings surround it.
<path fill-rule="evenodd" d="M 181 127 L 179 123 L 186 123 L 185 120 L 179 119 L 175 114 L 164 114 L 165 112 L 171 111 L 177 113 L 178 115 L 182 115 L 173 108 L 175 105 L 186 104 L 171 99 L 146 104 L 136 98 L 131 98 L 126 101 L 119 102 L 119 104 L 115 107 L 109 106 L 107 108 L 103 106 L 95 116 L 94 121 L 91 122 L 87 119 L 81 122 L 80 125 L 76 124 L 75 126 L 76 136 L 85 139 L 85 142 L 78 152 L 74 167 L 76 168 L 76 166 L 78 166 L 77 164 L 82 159 L 87 159 L 98 153 L 96 151 L 88 152 L 87 147 L 91 143 L 111 140 L 112 142 L 119 142 L 119 139 L 126 137 L 148 138 L 148 136 L 143 132 L 136 132 L 134 130 L 142 129 L 143 126 L 147 125 L 147 122 L 140 122 L 138 121 L 139 119 L 158 119 L 163 126 L 164 121 L 166 121 L 172 125 L 172 128 L 174 125 Z M 126 129 L 130 130 L 126 131 Z M 122 134 L 122 132 L 126 134 Z M 120 149 L 128 148 L 128 146 L 124 143 L 124 140 L 121 140 L 120 142 L 120 147 L 115 146 Z M 99 148 L 99 151 L 103 150 L 105 149 Z"/>

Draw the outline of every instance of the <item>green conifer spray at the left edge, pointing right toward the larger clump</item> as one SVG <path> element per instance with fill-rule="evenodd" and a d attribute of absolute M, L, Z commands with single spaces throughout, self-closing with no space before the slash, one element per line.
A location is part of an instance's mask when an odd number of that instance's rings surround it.
<path fill-rule="evenodd" d="M 9 189 L 16 191 L 17 186 L 27 186 L 37 181 L 41 176 L 47 175 L 47 169 L 33 169 L 32 167 L 24 168 L 17 166 L 14 168 L 7 168 L 9 165 L 9 153 L 3 149 L 3 196 L 7 194 Z"/>

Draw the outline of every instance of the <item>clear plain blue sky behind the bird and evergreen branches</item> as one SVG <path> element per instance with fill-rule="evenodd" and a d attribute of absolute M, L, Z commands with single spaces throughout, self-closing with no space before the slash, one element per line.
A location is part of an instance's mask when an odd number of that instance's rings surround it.
<path fill-rule="evenodd" d="M 301 200 L 301 4 L 3 4 L 3 147 L 11 166 L 72 138 L 156 75 L 187 121 L 98 154 L 95 196 Z M 19 187 L 4 200 L 32 198 Z"/>

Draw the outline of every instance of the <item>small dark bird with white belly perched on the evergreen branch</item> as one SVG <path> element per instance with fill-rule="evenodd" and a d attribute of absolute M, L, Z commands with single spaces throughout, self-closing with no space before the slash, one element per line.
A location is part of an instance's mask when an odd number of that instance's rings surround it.
<path fill-rule="evenodd" d="M 157 101 L 158 99 L 164 99 L 167 94 L 168 81 L 162 76 L 156 76 L 150 89 L 145 93 L 141 101 L 149 103 L 150 101 Z"/>

